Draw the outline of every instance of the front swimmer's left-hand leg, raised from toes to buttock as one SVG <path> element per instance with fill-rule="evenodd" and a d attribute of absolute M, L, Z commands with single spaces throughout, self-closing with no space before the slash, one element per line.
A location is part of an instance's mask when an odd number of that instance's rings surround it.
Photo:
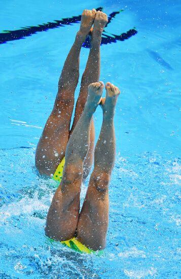
<path fill-rule="evenodd" d="M 92 116 L 101 100 L 103 86 L 102 82 L 89 85 L 84 112 L 67 144 L 62 181 L 53 197 L 45 229 L 47 236 L 57 240 L 70 239 L 76 232 L 83 162 L 89 148 Z"/>

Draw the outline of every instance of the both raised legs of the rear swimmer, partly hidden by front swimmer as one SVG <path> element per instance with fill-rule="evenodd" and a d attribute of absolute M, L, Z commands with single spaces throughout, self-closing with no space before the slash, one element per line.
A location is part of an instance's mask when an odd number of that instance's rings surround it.
<path fill-rule="evenodd" d="M 58 83 L 58 93 L 54 108 L 49 116 L 37 146 L 35 164 L 41 175 L 53 174 L 65 155 L 66 146 L 87 100 L 88 85 L 99 81 L 100 76 L 100 43 L 103 28 L 107 22 L 106 14 L 84 10 L 80 30 L 65 60 Z M 94 24 L 93 28 L 92 25 Z M 86 68 L 81 80 L 80 94 L 76 103 L 73 126 L 70 129 L 74 109 L 74 94 L 79 80 L 79 57 L 82 44 L 90 36 L 92 48 L 89 52 Z M 93 163 L 94 123 L 91 121 L 90 147 L 84 161 L 84 179 Z"/>

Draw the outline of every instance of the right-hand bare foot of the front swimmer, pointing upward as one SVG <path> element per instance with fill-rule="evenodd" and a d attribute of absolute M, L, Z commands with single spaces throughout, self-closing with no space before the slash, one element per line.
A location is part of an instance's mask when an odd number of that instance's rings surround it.
<path fill-rule="evenodd" d="M 104 117 L 114 114 L 114 109 L 120 94 L 119 88 L 110 82 L 106 83 L 105 90 L 106 97 L 102 98 L 100 102 Z"/>

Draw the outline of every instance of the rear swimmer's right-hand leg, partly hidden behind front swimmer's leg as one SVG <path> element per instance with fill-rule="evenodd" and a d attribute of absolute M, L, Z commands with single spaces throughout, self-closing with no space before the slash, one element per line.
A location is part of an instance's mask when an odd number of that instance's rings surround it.
<path fill-rule="evenodd" d="M 87 100 L 88 85 L 93 82 L 99 81 L 100 43 L 101 43 L 102 31 L 106 23 L 107 23 L 107 15 L 98 11 L 94 19 L 94 27 L 91 28 L 91 31 L 89 33 L 89 38 L 91 40 L 92 47 L 90 49 L 86 68 L 82 76 L 80 94 L 76 103 L 75 117 L 74 117 L 73 127 L 71 128 L 70 134 L 71 132 L 73 132 L 79 118 L 81 117 L 84 111 L 85 103 Z M 94 138 L 95 138 L 95 131 L 94 131 L 94 122 L 92 119 L 91 132 L 90 132 L 90 147 L 86 159 L 84 161 L 83 180 L 86 179 L 86 177 L 88 176 L 93 163 Z"/>

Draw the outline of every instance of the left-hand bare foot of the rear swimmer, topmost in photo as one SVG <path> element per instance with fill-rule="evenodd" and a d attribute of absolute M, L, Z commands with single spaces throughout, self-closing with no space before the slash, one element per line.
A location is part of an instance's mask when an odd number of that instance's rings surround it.
<path fill-rule="evenodd" d="M 96 10 L 84 10 L 81 17 L 80 33 L 86 38 L 94 22 Z"/>

